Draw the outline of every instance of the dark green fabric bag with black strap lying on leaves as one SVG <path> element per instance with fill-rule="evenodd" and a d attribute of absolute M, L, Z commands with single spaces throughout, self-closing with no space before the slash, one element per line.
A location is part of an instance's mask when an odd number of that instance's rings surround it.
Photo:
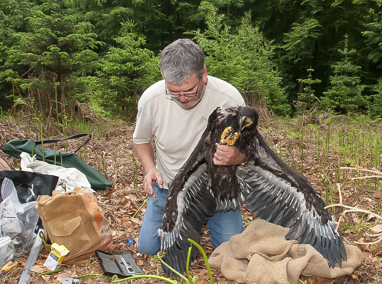
<path fill-rule="evenodd" d="M 79 134 L 79 135 L 74 135 L 72 137 L 69 137 L 66 139 L 60 139 L 60 140 L 45 140 L 43 141 L 43 143 L 48 144 L 48 143 L 54 143 L 54 142 L 58 142 L 62 140 L 76 139 L 86 135 L 89 135 L 89 139 L 87 139 L 87 141 L 83 144 L 85 145 L 91 139 L 90 134 Z M 37 160 L 42 161 L 42 149 L 40 147 L 37 147 L 37 144 L 41 144 L 41 141 L 34 142 L 30 139 L 27 139 L 27 140 L 13 139 L 4 145 L 3 152 L 15 158 L 20 158 L 21 152 L 29 153 L 29 155 L 32 156 L 32 148 L 33 148 L 33 155 L 36 155 Z M 74 151 L 74 153 L 76 153 L 83 145 L 81 145 L 76 151 Z M 59 152 L 61 153 L 61 155 L 59 154 Z M 54 156 L 56 155 L 56 165 L 61 166 L 61 158 L 62 158 L 62 166 L 65 168 L 76 168 L 82 173 L 84 173 L 92 189 L 105 190 L 107 188 L 112 187 L 111 183 L 103 175 L 101 175 L 99 171 L 87 165 L 83 160 L 81 160 L 81 158 L 79 158 L 74 153 L 54 151 L 44 147 L 44 161 L 54 165 Z"/>

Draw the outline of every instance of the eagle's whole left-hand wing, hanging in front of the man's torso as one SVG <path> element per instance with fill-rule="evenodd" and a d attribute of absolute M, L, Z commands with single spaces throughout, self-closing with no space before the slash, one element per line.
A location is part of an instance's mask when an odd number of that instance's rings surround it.
<path fill-rule="evenodd" d="M 159 230 L 161 249 L 166 255 L 163 260 L 180 273 L 186 269 L 186 258 L 190 243 L 188 238 L 200 243 L 202 225 L 217 207 L 210 190 L 210 177 L 207 171 L 206 154 L 211 152 L 211 133 L 216 122 L 223 118 L 220 108 L 209 116 L 206 130 L 190 157 L 171 181 L 162 225 Z M 191 250 L 191 262 L 197 248 Z M 167 274 L 172 274 L 162 266 Z"/>

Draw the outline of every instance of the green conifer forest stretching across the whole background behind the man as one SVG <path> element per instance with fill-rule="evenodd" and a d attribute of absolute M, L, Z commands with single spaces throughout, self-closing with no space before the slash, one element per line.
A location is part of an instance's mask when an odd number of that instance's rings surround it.
<path fill-rule="evenodd" d="M 87 103 L 134 121 L 178 38 L 248 104 L 382 118 L 380 0 L 0 0 L 1 115 L 63 123 Z"/>

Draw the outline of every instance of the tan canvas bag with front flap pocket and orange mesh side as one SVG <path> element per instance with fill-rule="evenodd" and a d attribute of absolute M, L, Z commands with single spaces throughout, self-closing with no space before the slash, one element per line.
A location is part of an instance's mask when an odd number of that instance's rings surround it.
<path fill-rule="evenodd" d="M 45 237 L 70 250 L 66 264 L 86 263 L 95 250 L 107 246 L 112 238 L 108 220 L 89 189 L 74 188 L 68 193 L 37 198 L 36 210 Z"/>

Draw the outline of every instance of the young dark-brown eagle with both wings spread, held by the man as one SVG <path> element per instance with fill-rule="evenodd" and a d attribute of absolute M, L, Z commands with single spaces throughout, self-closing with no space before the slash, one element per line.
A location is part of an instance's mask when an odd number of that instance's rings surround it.
<path fill-rule="evenodd" d="M 177 271 L 185 272 L 187 239 L 200 243 L 200 231 L 208 217 L 215 211 L 235 210 L 243 203 L 257 218 L 290 227 L 286 240 L 312 245 L 329 260 L 330 267 L 336 262 L 342 266 L 341 258 L 346 260 L 345 246 L 324 201 L 304 176 L 265 144 L 256 129 L 257 121 L 256 109 L 249 106 L 215 109 L 199 143 L 170 183 L 158 231 L 164 260 Z M 215 143 L 220 137 L 225 144 L 235 143 L 246 155 L 244 165 L 214 164 Z M 190 263 L 196 253 L 193 246 Z M 172 274 L 167 267 L 163 269 Z"/>

